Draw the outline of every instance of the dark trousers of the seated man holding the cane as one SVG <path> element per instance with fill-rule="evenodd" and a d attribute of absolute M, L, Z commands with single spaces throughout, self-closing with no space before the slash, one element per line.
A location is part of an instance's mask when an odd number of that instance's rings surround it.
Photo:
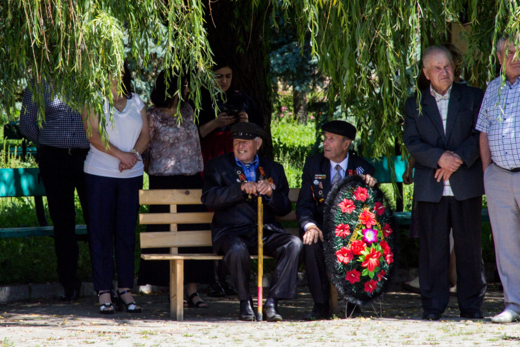
<path fill-rule="evenodd" d="M 256 232 L 256 230 L 255 230 Z M 215 240 L 215 251 L 223 254 L 223 261 L 231 273 L 231 281 L 239 300 L 248 300 L 251 275 L 250 255 L 258 254 L 256 235 L 224 235 Z M 268 298 L 294 299 L 302 240 L 289 233 L 264 234 L 264 255 L 276 259 Z"/>

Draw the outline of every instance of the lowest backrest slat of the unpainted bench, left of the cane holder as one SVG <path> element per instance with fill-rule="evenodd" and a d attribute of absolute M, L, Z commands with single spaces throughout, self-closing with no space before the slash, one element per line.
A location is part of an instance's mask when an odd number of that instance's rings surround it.
<path fill-rule="evenodd" d="M 212 247 L 211 230 L 140 233 L 141 248 Z"/>

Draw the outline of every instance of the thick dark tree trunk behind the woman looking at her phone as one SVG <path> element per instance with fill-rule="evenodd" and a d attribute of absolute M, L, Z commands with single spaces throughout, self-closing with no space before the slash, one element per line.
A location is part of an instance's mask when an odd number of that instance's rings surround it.
<path fill-rule="evenodd" d="M 211 6 L 211 7 L 210 7 Z M 263 154 L 272 158 L 271 88 L 268 84 L 269 2 L 217 0 L 206 5 L 206 30 L 215 56 L 224 55 L 233 68 L 231 88 L 249 94 L 264 117 Z"/>

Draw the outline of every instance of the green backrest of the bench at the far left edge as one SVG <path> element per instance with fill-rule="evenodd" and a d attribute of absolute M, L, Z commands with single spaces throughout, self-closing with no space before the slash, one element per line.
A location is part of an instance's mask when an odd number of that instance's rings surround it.
<path fill-rule="evenodd" d="M 0 197 L 45 196 L 38 168 L 0 169 Z"/>

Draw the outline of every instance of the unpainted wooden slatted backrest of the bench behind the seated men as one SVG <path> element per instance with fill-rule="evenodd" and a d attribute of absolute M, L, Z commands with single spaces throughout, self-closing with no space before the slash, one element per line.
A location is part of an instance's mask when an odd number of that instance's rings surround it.
<path fill-rule="evenodd" d="M 289 199 L 295 203 L 300 189 L 290 189 Z M 169 224 L 170 230 L 163 232 L 141 233 L 141 248 L 170 248 L 171 254 L 177 254 L 178 247 L 212 246 L 211 230 L 177 231 L 177 224 L 211 223 L 213 212 L 177 212 L 177 205 L 202 204 L 201 189 L 152 189 L 139 190 L 141 205 L 170 205 L 169 213 L 140 213 L 140 224 Z M 296 221 L 293 210 L 286 216 L 279 217 L 279 222 Z M 298 233 L 298 228 L 286 228 L 288 232 Z"/>

